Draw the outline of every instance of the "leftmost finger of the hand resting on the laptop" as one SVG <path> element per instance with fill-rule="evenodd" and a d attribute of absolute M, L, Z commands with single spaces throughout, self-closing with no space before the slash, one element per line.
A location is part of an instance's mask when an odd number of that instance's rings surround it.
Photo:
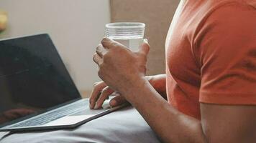
<path fill-rule="evenodd" d="M 93 85 L 93 90 L 91 92 L 90 97 L 90 108 L 93 109 L 95 107 L 96 101 L 99 98 L 99 94 L 101 93 L 101 90 L 106 87 L 106 84 L 104 82 L 96 82 Z"/>

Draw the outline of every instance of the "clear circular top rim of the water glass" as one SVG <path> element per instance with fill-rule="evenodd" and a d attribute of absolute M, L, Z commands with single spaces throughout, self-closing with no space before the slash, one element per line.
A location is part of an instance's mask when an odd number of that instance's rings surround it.
<path fill-rule="evenodd" d="M 124 24 L 124 26 L 122 26 Z M 142 22 L 114 22 L 106 24 L 106 28 L 117 29 L 130 29 L 130 28 L 145 28 L 145 24 Z"/>

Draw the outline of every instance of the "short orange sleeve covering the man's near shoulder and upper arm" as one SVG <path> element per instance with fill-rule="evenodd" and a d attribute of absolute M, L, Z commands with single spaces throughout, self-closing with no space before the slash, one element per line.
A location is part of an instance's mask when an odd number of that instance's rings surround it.
<path fill-rule="evenodd" d="M 213 11 L 194 41 L 201 67 L 199 102 L 256 104 L 256 9 L 227 4 Z"/>

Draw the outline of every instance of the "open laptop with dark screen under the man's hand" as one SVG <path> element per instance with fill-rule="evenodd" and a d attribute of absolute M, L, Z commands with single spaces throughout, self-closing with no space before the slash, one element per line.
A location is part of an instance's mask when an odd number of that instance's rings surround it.
<path fill-rule="evenodd" d="M 73 128 L 122 107 L 89 109 L 48 34 L 0 40 L 0 132 Z"/>

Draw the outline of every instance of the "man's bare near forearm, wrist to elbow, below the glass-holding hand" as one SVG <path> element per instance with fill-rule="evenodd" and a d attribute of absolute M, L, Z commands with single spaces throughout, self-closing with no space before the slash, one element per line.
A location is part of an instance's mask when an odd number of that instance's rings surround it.
<path fill-rule="evenodd" d="M 132 87 L 127 91 L 127 100 L 142 114 L 163 142 L 206 142 L 199 120 L 171 107 L 149 82 L 143 81 L 140 85 L 139 88 Z"/>

